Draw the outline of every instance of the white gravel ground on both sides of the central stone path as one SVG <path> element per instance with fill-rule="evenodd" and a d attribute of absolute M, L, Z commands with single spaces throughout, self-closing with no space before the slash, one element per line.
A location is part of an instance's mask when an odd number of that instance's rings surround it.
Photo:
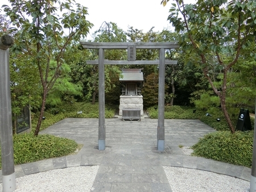
<path fill-rule="evenodd" d="M 16 178 L 16 192 L 75 192 L 93 191 L 92 185 L 99 166 L 74 166 L 54 169 Z M 172 192 L 243 192 L 250 182 L 203 170 L 163 166 Z M 2 191 L 2 183 L 0 185 Z"/>

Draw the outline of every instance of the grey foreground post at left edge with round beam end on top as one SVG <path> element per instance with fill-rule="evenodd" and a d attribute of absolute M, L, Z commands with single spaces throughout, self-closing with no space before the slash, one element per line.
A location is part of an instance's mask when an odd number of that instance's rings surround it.
<path fill-rule="evenodd" d="M 11 90 L 9 47 L 14 40 L 10 35 L 4 35 L 0 40 L 0 133 L 2 157 L 3 191 L 16 189 L 14 154 L 13 154 L 13 123 L 11 116 Z"/>

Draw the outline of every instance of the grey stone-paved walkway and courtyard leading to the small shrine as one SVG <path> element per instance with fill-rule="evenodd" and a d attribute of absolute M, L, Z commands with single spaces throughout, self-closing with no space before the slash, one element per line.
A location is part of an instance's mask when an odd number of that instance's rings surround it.
<path fill-rule="evenodd" d="M 106 149 L 98 151 L 98 119 L 67 118 L 40 134 L 76 140 L 84 147 L 76 155 L 15 166 L 16 177 L 51 169 L 100 165 L 93 191 L 172 191 L 162 166 L 179 166 L 226 174 L 250 181 L 251 169 L 186 156 L 179 145 L 192 146 L 213 128 L 199 120 L 165 120 L 165 151 L 156 150 L 157 119 L 106 119 Z"/>

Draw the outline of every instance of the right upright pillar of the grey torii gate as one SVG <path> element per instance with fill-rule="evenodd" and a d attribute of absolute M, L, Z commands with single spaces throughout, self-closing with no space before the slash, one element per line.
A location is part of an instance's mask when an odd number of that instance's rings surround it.
<path fill-rule="evenodd" d="M 158 82 L 158 151 L 164 151 L 164 85 L 165 85 L 164 49 L 159 50 L 159 82 Z"/>

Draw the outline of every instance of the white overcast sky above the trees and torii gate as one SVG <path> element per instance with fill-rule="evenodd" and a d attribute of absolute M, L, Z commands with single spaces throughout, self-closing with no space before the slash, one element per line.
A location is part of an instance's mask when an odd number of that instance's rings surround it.
<path fill-rule="evenodd" d="M 117 23 L 124 31 L 129 26 L 143 32 L 149 31 L 151 27 L 154 27 L 155 32 L 165 28 L 173 30 L 167 21 L 172 2 L 168 2 L 166 7 L 160 5 L 160 2 L 161 0 L 76 0 L 76 3 L 88 7 L 87 20 L 94 24 L 90 34 L 98 30 L 103 22 Z M 9 1 L 1 0 L 0 6 L 2 5 L 9 5 Z"/>

